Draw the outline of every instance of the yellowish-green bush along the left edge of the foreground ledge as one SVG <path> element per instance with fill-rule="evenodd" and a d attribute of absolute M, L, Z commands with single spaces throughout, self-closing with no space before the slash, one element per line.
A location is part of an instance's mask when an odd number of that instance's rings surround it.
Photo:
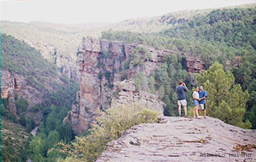
<path fill-rule="evenodd" d="M 76 137 L 71 145 L 59 143 L 55 148 L 61 152 L 65 159 L 58 161 L 94 161 L 104 150 L 105 145 L 119 138 L 123 131 L 130 127 L 146 122 L 154 122 L 159 112 L 150 110 L 140 101 L 112 106 L 96 117 L 95 123 L 89 129 L 87 137 Z"/>

